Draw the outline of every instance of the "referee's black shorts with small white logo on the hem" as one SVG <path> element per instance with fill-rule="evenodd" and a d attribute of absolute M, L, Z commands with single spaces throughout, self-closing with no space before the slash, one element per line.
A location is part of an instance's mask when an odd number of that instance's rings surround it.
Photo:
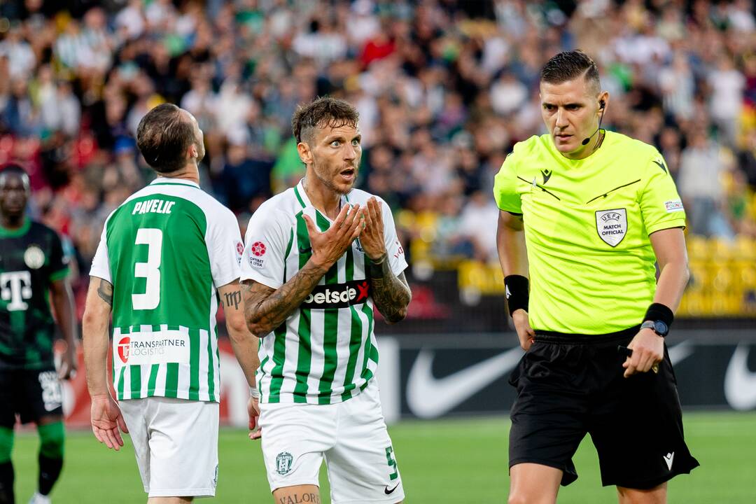
<path fill-rule="evenodd" d="M 536 332 L 510 376 L 510 468 L 534 462 L 578 478 L 572 456 L 590 434 L 604 486 L 648 489 L 699 465 L 683 439 L 677 381 L 665 347 L 658 374 L 624 378 L 617 346 L 638 328 L 608 335 Z"/>

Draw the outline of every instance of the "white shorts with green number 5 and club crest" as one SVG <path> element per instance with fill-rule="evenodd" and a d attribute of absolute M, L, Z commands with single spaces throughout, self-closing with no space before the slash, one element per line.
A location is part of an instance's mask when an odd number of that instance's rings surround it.
<path fill-rule="evenodd" d="M 342 403 L 260 404 L 260 410 L 271 492 L 294 485 L 318 486 L 325 457 L 333 504 L 404 499 L 375 380 Z"/>

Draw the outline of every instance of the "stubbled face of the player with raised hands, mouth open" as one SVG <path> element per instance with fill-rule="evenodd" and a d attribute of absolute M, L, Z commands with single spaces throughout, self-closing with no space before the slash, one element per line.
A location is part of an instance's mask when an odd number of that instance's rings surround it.
<path fill-rule="evenodd" d="M 299 145 L 302 161 L 312 166 L 314 175 L 321 184 L 334 193 L 347 194 L 357 180 L 362 158 L 362 136 L 359 125 L 343 125 L 338 128 L 316 128 L 312 145 Z"/>

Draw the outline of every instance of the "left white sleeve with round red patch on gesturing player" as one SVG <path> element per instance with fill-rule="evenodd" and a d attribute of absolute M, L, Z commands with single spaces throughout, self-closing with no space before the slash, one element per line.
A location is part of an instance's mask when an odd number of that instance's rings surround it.
<path fill-rule="evenodd" d="M 241 258 L 241 280 L 254 280 L 271 289 L 283 285 L 283 261 L 287 240 L 275 212 L 265 205 L 249 219 L 244 237 L 244 254 Z"/>

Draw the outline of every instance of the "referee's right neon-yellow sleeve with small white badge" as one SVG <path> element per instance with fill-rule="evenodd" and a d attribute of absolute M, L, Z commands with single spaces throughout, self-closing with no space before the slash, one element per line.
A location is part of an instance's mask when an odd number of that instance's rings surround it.
<path fill-rule="evenodd" d="M 667 163 L 658 152 L 646 166 L 646 180 L 640 193 L 640 212 L 649 234 L 671 227 L 685 227 L 685 209 Z"/>

